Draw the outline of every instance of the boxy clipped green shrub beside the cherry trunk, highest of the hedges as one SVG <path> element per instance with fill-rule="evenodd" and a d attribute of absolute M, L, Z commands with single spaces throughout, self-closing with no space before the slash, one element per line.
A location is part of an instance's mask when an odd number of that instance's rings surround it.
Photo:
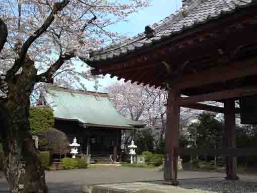
<path fill-rule="evenodd" d="M 45 133 L 49 128 L 53 127 L 53 111 L 49 107 L 30 107 L 29 121 L 34 135 Z"/>

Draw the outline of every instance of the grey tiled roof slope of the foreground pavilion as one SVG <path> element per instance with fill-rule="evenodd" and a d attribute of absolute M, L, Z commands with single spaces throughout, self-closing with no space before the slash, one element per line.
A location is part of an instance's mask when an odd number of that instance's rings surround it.
<path fill-rule="evenodd" d="M 100 62 L 126 55 L 256 3 L 257 0 L 195 0 L 190 6 L 184 6 L 179 11 L 154 24 L 152 26 L 154 29 L 153 37 L 149 38 L 145 33 L 141 33 L 119 44 L 91 52 L 90 58 L 86 61 L 90 65 L 91 62 Z"/>

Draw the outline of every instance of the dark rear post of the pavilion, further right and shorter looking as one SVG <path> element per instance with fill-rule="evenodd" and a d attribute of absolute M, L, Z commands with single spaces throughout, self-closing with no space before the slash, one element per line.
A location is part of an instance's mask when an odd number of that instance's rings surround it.
<path fill-rule="evenodd" d="M 226 148 L 236 148 L 235 134 L 235 101 L 227 99 L 224 102 L 224 118 L 225 118 L 225 141 Z M 226 179 L 238 180 L 236 175 L 237 161 L 235 157 L 226 156 Z"/>

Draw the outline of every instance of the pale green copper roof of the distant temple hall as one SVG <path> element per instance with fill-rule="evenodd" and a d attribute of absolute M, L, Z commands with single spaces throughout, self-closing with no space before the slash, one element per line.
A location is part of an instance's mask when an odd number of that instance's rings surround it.
<path fill-rule="evenodd" d="M 113 107 L 106 93 L 48 88 L 44 96 L 53 109 L 54 117 L 77 120 L 85 125 L 134 128 L 143 127 L 140 121 L 127 119 Z"/>

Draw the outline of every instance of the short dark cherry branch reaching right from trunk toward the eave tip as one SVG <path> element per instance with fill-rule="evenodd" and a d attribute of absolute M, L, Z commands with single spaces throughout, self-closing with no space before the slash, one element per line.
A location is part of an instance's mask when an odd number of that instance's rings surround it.
<path fill-rule="evenodd" d="M 53 63 L 53 65 L 51 65 L 46 72 L 37 75 L 36 82 L 53 83 L 53 74 L 56 73 L 56 71 L 63 65 L 66 60 L 69 60 L 73 57 L 76 57 L 75 51 L 60 55 L 55 63 Z"/>

